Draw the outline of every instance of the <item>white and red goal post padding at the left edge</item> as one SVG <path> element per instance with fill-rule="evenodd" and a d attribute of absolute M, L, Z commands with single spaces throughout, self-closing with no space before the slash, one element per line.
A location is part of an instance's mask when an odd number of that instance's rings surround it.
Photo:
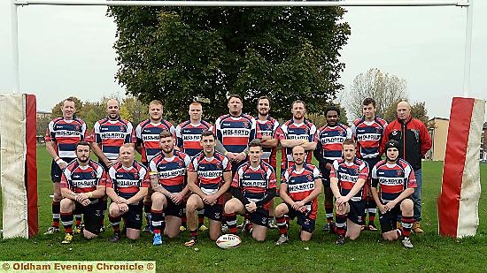
<path fill-rule="evenodd" d="M 37 235 L 35 95 L 0 95 L 0 181 L 4 239 Z"/>

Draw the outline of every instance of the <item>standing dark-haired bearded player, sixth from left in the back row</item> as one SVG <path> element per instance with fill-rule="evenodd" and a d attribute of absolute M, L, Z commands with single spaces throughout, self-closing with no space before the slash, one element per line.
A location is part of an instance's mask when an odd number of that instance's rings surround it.
<path fill-rule="evenodd" d="M 262 160 L 269 163 L 275 171 L 277 146 L 279 145 L 276 131 L 279 128 L 279 122 L 269 116 L 269 110 L 271 110 L 271 100 L 267 96 L 259 97 L 257 101 L 258 116 L 255 118 L 257 121 L 257 138 L 259 138 L 263 148 Z M 274 221 L 274 198 L 269 203 L 267 226 L 271 229 L 277 228 Z"/>

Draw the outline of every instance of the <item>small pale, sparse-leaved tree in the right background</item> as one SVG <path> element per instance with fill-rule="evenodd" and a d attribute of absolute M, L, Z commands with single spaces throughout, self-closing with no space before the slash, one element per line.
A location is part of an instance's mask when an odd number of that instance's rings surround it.
<path fill-rule="evenodd" d="M 375 100 L 377 108 L 375 115 L 385 117 L 392 105 L 395 107 L 397 102 L 406 99 L 406 80 L 387 72 L 384 74 L 377 68 L 371 68 L 355 77 L 346 96 L 347 110 L 352 114 L 352 118 L 362 117 L 362 102 L 367 97 Z"/>

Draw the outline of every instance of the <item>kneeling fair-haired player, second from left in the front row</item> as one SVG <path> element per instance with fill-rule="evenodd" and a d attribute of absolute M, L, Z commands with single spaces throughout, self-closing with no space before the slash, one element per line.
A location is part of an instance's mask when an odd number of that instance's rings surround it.
<path fill-rule="evenodd" d="M 120 147 L 120 162 L 108 171 L 106 195 L 112 200 L 108 219 L 113 228 L 111 242 L 120 240 L 120 221 L 125 220 L 128 239 L 139 239 L 142 228 L 143 198 L 147 195 L 149 172 L 143 164 L 135 161 L 135 149 L 126 143 Z"/>

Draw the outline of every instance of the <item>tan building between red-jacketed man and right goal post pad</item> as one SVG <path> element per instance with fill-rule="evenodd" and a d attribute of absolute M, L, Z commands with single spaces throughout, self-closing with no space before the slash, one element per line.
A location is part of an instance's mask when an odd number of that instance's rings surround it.
<path fill-rule="evenodd" d="M 426 125 L 433 145 L 426 153 L 426 158 L 435 161 L 444 161 L 446 150 L 446 137 L 448 135 L 448 118 L 431 118 Z"/>

